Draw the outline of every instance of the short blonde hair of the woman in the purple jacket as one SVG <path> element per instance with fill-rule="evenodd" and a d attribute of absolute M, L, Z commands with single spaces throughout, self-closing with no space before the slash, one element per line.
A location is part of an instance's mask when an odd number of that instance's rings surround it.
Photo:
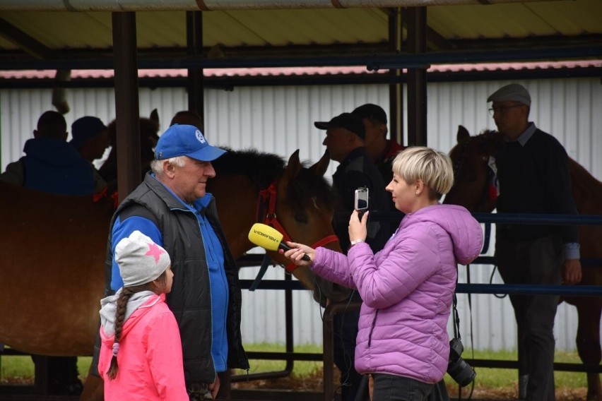
<path fill-rule="evenodd" d="M 425 146 L 412 146 L 399 152 L 392 169 L 408 184 L 423 181 L 431 198 L 440 199 L 454 185 L 454 168 L 449 156 Z"/>

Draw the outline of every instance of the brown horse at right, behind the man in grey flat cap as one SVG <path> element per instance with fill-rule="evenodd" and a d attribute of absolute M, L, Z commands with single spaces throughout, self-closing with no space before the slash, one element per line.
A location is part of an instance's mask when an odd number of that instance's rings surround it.
<path fill-rule="evenodd" d="M 470 136 L 466 128 L 459 126 L 458 143 L 449 156 L 454 164 L 455 182 L 445 197 L 445 203 L 463 205 L 468 210 L 490 213 L 495 208 L 496 194 L 492 191 L 490 157 L 501 145 L 502 134 L 485 131 Z M 569 160 L 572 195 L 577 210 L 582 215 L 602 215 L 602 182 L 587 172 L 574 160 Z M 602 258 L 602 227 L 582 225 L 579 241 L 582 258 Z M 581 285 L 602 285 L 602 266 L 584 267 Z M 602 354 L 600 345 L 600 318 L 602 297 L 563 297 L 577 307 L 577 350 L 586 366 L 598 366 Z M 587 400 L 602 400 L 600 376 L 587 373 Z"/>

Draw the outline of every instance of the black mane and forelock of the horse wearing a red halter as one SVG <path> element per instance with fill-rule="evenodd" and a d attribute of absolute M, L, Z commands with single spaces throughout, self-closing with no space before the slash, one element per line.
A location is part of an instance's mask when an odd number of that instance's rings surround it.
<path fill-rule="evenodd" d="M 260 152 L 255 149 L 232 150 L 221 147 L 228 152 L 211 162 L 218 176 L 225 174 L 242 174 L 255 183 L 256 190 L 267 188 L 285 168 L 285 160 L 273 153 Z M 293 208 L 303 209 L 309 206 L 311 197 L 332 205 L 330 184 L 324 176 L 317 176 L 302 162 L 299 174 L 288 184 L 288 198 Z"/>

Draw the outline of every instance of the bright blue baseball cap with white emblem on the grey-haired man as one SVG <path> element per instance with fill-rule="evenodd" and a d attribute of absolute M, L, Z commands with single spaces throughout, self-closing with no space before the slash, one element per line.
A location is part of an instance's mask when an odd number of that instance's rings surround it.
<path fill-rule="evenodd" d="M 209 145 L 196 126 L 174 124 L 159 137 L 155 159 L 188 156 L 201 162 L 212 162 L 226 151 Z"/>

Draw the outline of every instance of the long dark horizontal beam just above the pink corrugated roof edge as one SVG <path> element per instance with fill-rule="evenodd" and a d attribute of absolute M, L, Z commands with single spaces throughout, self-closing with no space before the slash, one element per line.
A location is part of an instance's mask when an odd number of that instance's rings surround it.
<path fill-rule="evenodd" d="M 543 38 L 524 38 L 519 40 L 453 40 L 450 41 L 455 47 L 453 51 L 446 52 L 427 52 L 424 56 L 432 55 L 434 58 L 437 55 L 444 54 L 447 59 L 452 59 L 454 54 L 457 57 L 464 57 L 479 54 L 480 49 L 488 49 L 487 52 L 493 54 L 494 59 L 492 61 L 516 61 L 516 53 L 521 52 L 526 57 L 524 61 L 529 59 L 542 59 L 540 55 L 543 49 L 558 48 L 558 53 L 554 55 L 553 52 L 549 52 L 549 59 L 576 59 L 582 57 L 588 58 L 601 58 L 602 54 L 600 47 L 602 44 L 602 35 L 582 35 L 578 37 L 543 37 Z M 405 48 L 405 44 L 403 44 Z M 590 49 L 590 50 L 588 50 Z M 203 54 L 209 52 L 209 48 L 206 47 Z M 232 60 L 247 60 L 247 64 L 252 64 L 253 60 L 268 59 L 272 64 L 278 59 L 300 59 L 301 64 L 298 66 L 307 66 L 307 62 L 312 59 L 320 59 L 327 57 L 329 59 L 335 58 L 336 56 L 341 57 L 359 57 L 367 58 L 374 55 L 385 55 L 391 56 L 391 50 L 389 49 L 388 42 L 369 43 L 369 44 L 336 44 L 332 46 L 309 46 L 309 45 L 297 45 L 297 46 L 283 46 L 283 47 L 220 47 L 220 52 L 225 56 L 223 64 L 232 63 Z M 497 53 L 499 54 L 497 54 Z M 532 53 L 532 54 L 531 54 Z M 54 64 L 60 64 L 60 68 L 64 68 L 69 64 L 73 64 L 72 68 L 112 68 L 112 49 L 61 49 L 57 51 L 60 57 L 49 57 L 47 60 L 53 61 Z M 311 58 L 307 56 L 311 54 Z M 507 56 L 505 55 L 507 54 Z M 514 55 L 513 55 L 514 54 Z M 571 55 L 574 54 L 574 55 Z M 141 63 L 149 64 L 158 62 L 158 64 L 165 64 L 166 59 L 171 60 L 172 67 L 170 68 L 184 68 L 182 63 L 187 63 L 189 56 L 187 56 L 187 49 L 185 47 L 165 47 L 165 48 L 153 48 L 153 49 L 138 49 L 138 58 Z M 163 61 L 161 61 L 163 60 Z M 468 60 L 465 60 L 468 61 Z M 474 62 L 480 62 L 481 59 Z M 194 61 L 196 62 L 196 61 Z M 219 60 L 206 59 L 203 61 L 207 66 L 212 62 L 219 62 Z M 463 61 L 464 62 L 464 61 Z M 96 65 L 95 65 L 96 64 Z M 181 65 L 179 65 L 181 64 Z M 440 63 L 440 64 L 445 64 Z M 314 64 L 318 65 L 318 64 Z M 336 65 L 341 65 L 340 63 Z M 4 51 L 0 53 L 0 69 L 11 70 L 11 69 L 49 69 L 57 68 L 56 66 L 50 67 L 45 64 L 44 61 L 40 60 L 39 57 L 32 59 L 30 54 L 21 52 L 18 50 Z M 158 68 L 158 67 L 145 67 L 145 68 Z M 166 68 L 166 67 L 161 67 Z M 207 67 L 212 68 L 212 67 Z M 215 67 L 213 67 L 215 68 Z"/>

